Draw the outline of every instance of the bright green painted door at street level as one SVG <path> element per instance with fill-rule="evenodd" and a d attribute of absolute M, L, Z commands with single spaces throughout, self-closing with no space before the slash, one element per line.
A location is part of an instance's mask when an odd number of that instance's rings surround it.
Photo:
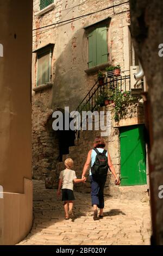
<path fill-rule="evenodd" d="M 121 186 L 147 184 L 144 129 L 144 125 L 120 129 Z"/>

